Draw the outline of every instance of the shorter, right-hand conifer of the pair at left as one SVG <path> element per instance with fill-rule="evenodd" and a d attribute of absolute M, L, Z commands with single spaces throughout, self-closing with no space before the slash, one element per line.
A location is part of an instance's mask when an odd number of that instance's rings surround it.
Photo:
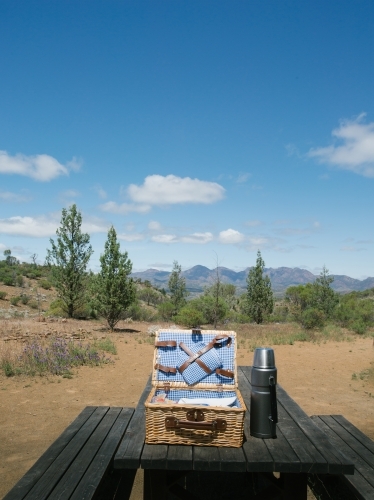
<path fill-rule="evenodd" d="M 113 331 L 135 301 L 136 293 L 130 278 L 132 262 L 127 252 L 121 253 L 117 233 L 112 226 L 108 231 L 104 253 L 100 256 L 101 269 L 94 279 L 94 304 Z"/>

